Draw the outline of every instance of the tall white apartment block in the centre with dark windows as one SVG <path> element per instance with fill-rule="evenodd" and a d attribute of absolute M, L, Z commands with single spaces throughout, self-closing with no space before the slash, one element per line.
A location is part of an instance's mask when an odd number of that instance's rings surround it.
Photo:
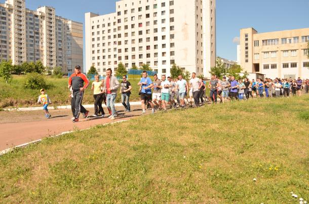
<path fill-rule="evenodd" d="M 122 62 L 159 75 L 176 63 L 208 77 L 216 59 L 215 0 L 122 0 L 116 12 L 85 14 L 86 70 L 100 75 Z"/>

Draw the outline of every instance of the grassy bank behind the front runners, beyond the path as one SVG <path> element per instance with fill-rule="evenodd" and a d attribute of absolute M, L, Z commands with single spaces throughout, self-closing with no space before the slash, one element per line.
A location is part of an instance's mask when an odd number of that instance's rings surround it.
<path fill-rule="evenodd" d="M 10 84 L 5 83 L 3 79 L 0 79 L 0 108 L 11 108 L 11 107 L 31 107 L 38 106 L 36 104 L 37 97 L 40 95 L 40 89 L 32 90 L 24 88 L 24 76 L 16 76 Z M 129 80 L 132 84 L 132 94 L 130 97 L 131 101 L 139 100 L 137 85 L 139 79 Z M 47 78 L 47 83 L 50 86 L 48 88 L 47 94 L 52 100 L 52 106 L 69 105 L 70 99 L 68 95 L 70 94 L 67 88 L 68 78 Z M 92 83 L 92 81 L 90 82 Z M 83 98 L 83 104 L 93 104 L 93 92 L 90 87 L 86 89 Z M 116 98 L 117 102 L 121 101 L 121 95 L 118 94 Z"/>

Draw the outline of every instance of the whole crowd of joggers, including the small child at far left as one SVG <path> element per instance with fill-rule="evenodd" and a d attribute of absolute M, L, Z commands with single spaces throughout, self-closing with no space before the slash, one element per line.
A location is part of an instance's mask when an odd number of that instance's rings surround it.
<path fill-rule="evenodd" d="M 115 110 L 115 99 L 118 93 L 121 94 L 122 104 L 125 112 L 131 112 L 130 94 L 132 90 L 131 83 L 127 80 L 127 76 L 122 77 L 121 83 L 112 76 L 112 70 L 106 70 L 106 79 L 100 80 L 99 76 L 95 76 L 92 82 L 91 90 L 94 97 L 94 115 L 93 117 L 105 117 L 102 103 L 104 101 L 109 119 L 116 119 L 118 112 Z M 87 118 L 89 111 L 82 106 L 84 90 L 89 86 L 89 80 L 86 75 L 81 73 L 81 67 L 75 67 L 75 73 L 69 77 L 68 88 L 71 93 L 71 111 L 73 118 L 71 121 L 79 122 L 80 113 Z M 206 79 L 200 79 L 196 73 L 192 73 L 191 79 L 187 82 L 180 74 L 177 78 L 161 76 L 153 76 L 153 81 L 147 76 L 147 72 L 142 73 L 142 78 L 137 84 L 139 86 L 139 95 L 141 99 L 142 114 L 146 113 L 146 109 L 151 109 L 151 113 L 157 110 L 166 111 L 167 107 L 184 109 L 188 107 L 199 107 L 205 103 L 220 103 L 227 100 L 246 100 L 250 97 L 289 97 L 301 95 L 301 90 L 308 93 L 309 80 L 292 79 L 270 79 L 260 78 L 251 81 L 248 78 L 236 80 L 234 76 L 218 76 L 212 75 L 209 82 Z M 209 88 L 209 96 L 206 95 L 206 87 Z M 290 94 L 291 93 L 291 94 Z M 46 118 L 51 118 L 48 112 L 48 105 L 51 104 L 49 96 L 44 89 L 41 89 L 41 95 L 38 97 L 38 103 L 43 104 Z M 100 116 L 99 116 L 100 115 Z"/>

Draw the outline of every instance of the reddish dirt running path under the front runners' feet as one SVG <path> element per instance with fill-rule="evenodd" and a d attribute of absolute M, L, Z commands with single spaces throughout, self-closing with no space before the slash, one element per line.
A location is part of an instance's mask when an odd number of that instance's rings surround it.
<path fill-rule="evenodd" d="M 93 109 L 88 110 L 91 115 L 94 113 Z M 0 112 L 0 151 L 66 131 L 82 130 L 100 124 L 129 120 L 141 113 L 140 106 L 132 106 L 131 110 L 133 111 L 125 113 L 123 107 L 117 108 L 119 112 L 117 120 L 109 120 L 107 118 L 109 114 L 105 112 L 105 118 L 90 118 L 88 121 L 82 119 L 81 116 L 79 123 L 70 121 L 72 117 L 70 110 L 51 110 L 50 114 L 53 116 L 51 119 L 46 119 L 43 111 Z"/>

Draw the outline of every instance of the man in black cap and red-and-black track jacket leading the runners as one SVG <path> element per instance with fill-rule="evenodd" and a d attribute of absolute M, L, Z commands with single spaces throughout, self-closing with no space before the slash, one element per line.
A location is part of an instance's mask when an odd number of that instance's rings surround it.
<path fill-rule="evenodd" d="M 84 85 L 85 82 L 85 85 Z M 89 111 L 86 111 L 86 109 L 81 110 L 81 105 L 83 101 L 84 96 L 84 90 L 89 86 L 89 80 L 87 79 L 86 75 L 81 73 L 81 66 L 77 65 L 75 66 L 75 73 L 71 74 L 68 81 L 68 88 L 72 87 L 72 102 L 71 107 L 72 110 L 74 109 L 73 114 L 73 123 L 79 122 L 79 117 L 81 111 L 85 114 L 85 118 L 88 117 Z"/>

